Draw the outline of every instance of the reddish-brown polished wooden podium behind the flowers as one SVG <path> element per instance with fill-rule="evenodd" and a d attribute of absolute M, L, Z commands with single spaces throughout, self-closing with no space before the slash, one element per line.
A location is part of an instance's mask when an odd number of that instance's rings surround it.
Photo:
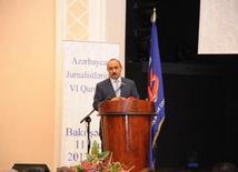
<path fill-rule="evenodd" d="M 147 168 L 153 103 L 138 99 L 107 101 L 99 114 L 103 150 L 112 152 L 112 160 L 135 166 L 131 172 Z"/>

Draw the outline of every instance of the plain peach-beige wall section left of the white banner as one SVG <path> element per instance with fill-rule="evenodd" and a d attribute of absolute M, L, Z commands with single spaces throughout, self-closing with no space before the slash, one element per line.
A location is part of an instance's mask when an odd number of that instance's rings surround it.
<path fill-rule="evenodd" d="M 53 164 L 54 0 L 0 1 L 0 171 Z"/>

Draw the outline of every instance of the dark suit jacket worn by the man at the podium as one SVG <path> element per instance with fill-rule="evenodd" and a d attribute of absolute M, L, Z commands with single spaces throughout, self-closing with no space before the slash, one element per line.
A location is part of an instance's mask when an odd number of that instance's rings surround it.
<path fill-rule="evenodd" d="M 139 94 L 137 92 L 137 87 L 132 80 L 127 78 L 121 78 L 121 82 L 125 83 L 120 92 L 120 95 L 122 98 L 129 98 L 129 97 L 139 98 Z M 108 97 L 110 98 L 116 97 L 110 79 L 103 80 L 96 85 L 92 107 L 96 110 L 98 110 L 98 104 L 105 99 L 107 99 Z"/>

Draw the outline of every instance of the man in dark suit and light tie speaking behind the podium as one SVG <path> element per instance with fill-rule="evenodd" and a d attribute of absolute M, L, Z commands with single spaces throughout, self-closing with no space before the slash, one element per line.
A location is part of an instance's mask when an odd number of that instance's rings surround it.
<path fill-rule="evenodd" d="M 92 104 L 96 110 L 98 110 L 100 102 L 106 99 L 113 101 L 130 97 L 139 98 L 135 82 L 121 77 L 122 67 L 119 60 L 110 59 L 107 63 L 107 70 L 109 78 L 96 85 Z"/>

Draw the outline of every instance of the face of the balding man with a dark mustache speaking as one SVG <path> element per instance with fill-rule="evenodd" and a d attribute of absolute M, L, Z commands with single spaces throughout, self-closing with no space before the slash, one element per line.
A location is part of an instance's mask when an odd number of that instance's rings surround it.
<path fill-rule="evenodd" d="M 110 78 L 112 79 L 118 79 L 121 74 L 121 65 L 117 60 L 109 61 L 107 65 L 107 70 Z"/>

